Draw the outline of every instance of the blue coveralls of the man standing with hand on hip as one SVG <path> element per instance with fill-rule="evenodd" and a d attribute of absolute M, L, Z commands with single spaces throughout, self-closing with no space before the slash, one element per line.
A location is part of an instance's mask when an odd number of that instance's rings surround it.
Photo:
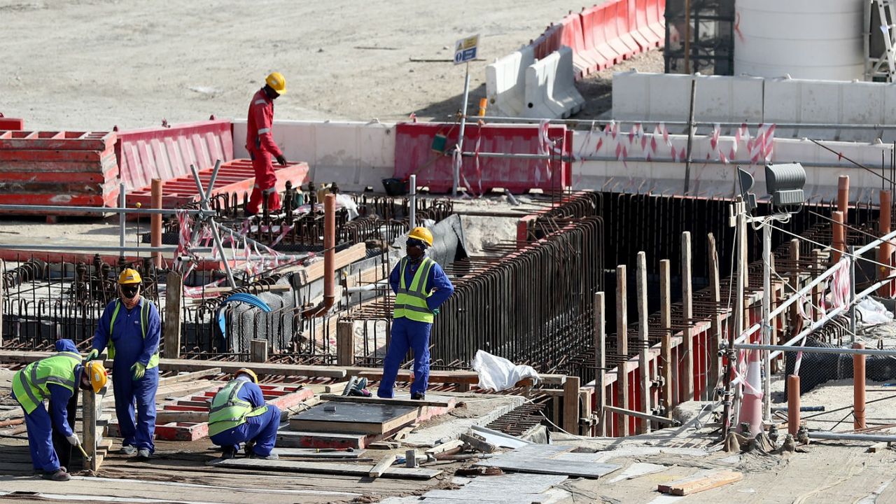
<path fill-rule="evenodd" d="M 404 274 L 405 285 L 410 285 L 413 282 L 418 267 L 419 263 L 408 263 Z M 396 294 L 401 284 L 400 275 L 401 261 L 392 268 L 392 274 L 389 274 L 389 284 L 392 285 L 392 292 Z M 448 280 L 448 275 L 438 263 L 434 263 L 430 268 L 426 287 L 430 291 L 435 289 L 435 292 L 426 298 L 426 306 L 431 310 L 439 308 L 454 293 L 452 282 Z M 426 387 L 429 384 L 429 333 L 432 328 L 432 324 L 410 320 L 406 317 L 392 319 L 389 350 L 386 352 L 385 361 L 383 361 L 383 380 L 380 382 L 376 395 L 387 398 L 394 395 L 392 387 L 398 376 L 398 368 L 401 366 L 401 361 L 404 361 L 404 356 L 408 354 L 409 348 L 414 351 L 414 383 L 410 385 L 410 394 L 426 394 Z"/>

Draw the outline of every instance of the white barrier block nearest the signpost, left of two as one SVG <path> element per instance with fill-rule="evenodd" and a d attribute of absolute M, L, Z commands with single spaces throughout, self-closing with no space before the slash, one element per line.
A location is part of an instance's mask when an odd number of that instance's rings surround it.
<path fill-rule="evenodd" d="M 486 66 L 486 97 L 504 116 L 521 117 L 526 108 L 526 68 L 535 63 L 531 46 L 495 60 Z"/>

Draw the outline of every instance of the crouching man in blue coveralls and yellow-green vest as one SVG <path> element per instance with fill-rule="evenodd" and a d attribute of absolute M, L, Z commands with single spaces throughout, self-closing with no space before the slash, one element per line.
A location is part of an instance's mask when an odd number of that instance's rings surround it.
<path fill-rule="evenodd" d="M 211 399 L 209 437 L 222 448 L 222 458 L 237 456 L 240 443 L 246 455 L 276 460 L 271 453 L 280 427 L 280 408 L 264 404 L 258 377 L 252 369 L 237 369 L 233 379 Z"/>

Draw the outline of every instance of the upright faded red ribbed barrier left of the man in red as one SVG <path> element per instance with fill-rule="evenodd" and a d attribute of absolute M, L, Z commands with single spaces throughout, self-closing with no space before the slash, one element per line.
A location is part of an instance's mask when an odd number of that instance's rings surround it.
<path fill-rule="evenodd" d="M 115 146 L 121 178 L 127 190 L 148 187 L 153 178 L 170 180 L 233 160 L 230 121 L 210 119 L 195 123 L 118 132 Z"/>

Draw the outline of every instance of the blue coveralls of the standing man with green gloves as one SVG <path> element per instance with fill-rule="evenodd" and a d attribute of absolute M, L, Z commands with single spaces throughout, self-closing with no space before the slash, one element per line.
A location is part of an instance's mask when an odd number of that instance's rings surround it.
<path fill-rule="evenodd" d="M 93 348 L 102 353 L 108 343 L 109 323 L 115 311 L 114 300 L 108 304 L 97 324 L 93 335 Z M 146 319 L 146 339 L 143 339 L 141 313 L 143 303 L 150 303 Z M 112 329 L 112 343 L 115 343 L 115 359 L 112 364 L 112 383 L 115 391 L 115 413 L 118 429 L 124 438 L 122 446 L 155 451 L 152 436 L 156 431 L 156 390 L 159 388 L 159 367 L 147 368 L 143 378 L 133 379 L 131 366 L 137 361 L 148 365 L 150 358 L 159 352 L 161 320 L 159 310 L 149 300 L 142 297 L 134 308 L 127 309 L 122 304 L 118 309 L 115 326 Z M 137 401 L 137 422 L 134 424 L 134 399 Z"/>

